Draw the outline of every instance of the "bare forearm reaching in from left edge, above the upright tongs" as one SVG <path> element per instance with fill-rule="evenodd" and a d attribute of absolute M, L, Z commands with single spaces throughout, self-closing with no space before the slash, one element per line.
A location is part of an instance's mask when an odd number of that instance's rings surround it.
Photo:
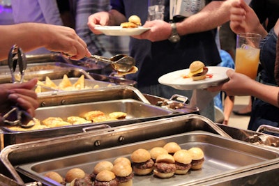
<path fill-rule="evenodd" d="M 24 23 L 0 26 L 0 60 L 7 58 L 10 48 L 15 44 L 21 47 L 24 52 L 42 47 L 45 43 L 43 38 L 47 38 L 44 35 L 45 27 L 42 25 Z"/>

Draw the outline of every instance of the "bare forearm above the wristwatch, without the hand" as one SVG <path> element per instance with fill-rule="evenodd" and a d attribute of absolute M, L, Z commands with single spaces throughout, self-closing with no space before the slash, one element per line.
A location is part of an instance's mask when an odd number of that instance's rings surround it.
<path fill-rule="evenodd" d="M 179 35 L 215 29 L 229 21 L 229 1 L 212 1 L 199 13 L 176 24 Z"/>

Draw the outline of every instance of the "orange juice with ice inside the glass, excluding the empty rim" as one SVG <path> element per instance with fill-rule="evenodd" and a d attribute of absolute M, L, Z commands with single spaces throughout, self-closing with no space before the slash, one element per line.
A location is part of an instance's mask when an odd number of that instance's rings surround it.
<path fill-rule="evenodd" d="M 259 66 L 259 49 L 249 47 L 236 49 L 235 72 L 255 79 Z"/>

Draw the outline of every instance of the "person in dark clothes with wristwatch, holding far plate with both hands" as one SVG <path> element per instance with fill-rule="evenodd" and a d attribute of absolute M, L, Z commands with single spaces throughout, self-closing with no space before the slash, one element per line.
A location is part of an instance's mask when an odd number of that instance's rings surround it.
<path fill-rule="evenodd" d="M 220 63 L 216 46 L 216 28 L 229 20 L 230 1 L 204 1 L 206 6 L 190 17 L 176 24 L 169 23 L 169 1 L 165 1 L 164 20 L 147 21 L 148 0 L 128 1 L 111 0 L 112 9 L 89 17 L 89 28 L 100 34 L 94 27 L 101 25 L 120 25 L 128 17 L 137 15 L 149 31 L 130 38 L 130 56 L 136 61 L 139 71 L 127 75 L 128 79 L 137 81 L 137 88 L 142 93 L 170 98 L 175 93 L 192 96 L 193 91 L 176 90 L 158 84 L 158 78 L 168 72 L 189 68 L 193 61 L 203 61 L 205 65 Z M 174 26 L 176 26 L 176 33 Z M 180 37 L 172 42 L 171 36 Z M 170 40 L 169 40 L 170 39 Z M 201 111 L 203 116 L 214 120 L 213 100 Z"/>

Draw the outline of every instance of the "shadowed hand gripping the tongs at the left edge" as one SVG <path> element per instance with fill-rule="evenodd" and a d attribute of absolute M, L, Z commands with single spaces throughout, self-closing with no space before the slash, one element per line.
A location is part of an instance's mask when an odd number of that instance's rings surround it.
<path fill-rule="evenodd" d="M 0 84 L 0 112 L 6 114 L 12 106 L 19 106 L 27 111 L 30 116 L 35 116 L 35 110 L 39 104 L 37 94 L 33 88 L 37 84 L 37 79 L 31 79 L 22 84 Z"/>

